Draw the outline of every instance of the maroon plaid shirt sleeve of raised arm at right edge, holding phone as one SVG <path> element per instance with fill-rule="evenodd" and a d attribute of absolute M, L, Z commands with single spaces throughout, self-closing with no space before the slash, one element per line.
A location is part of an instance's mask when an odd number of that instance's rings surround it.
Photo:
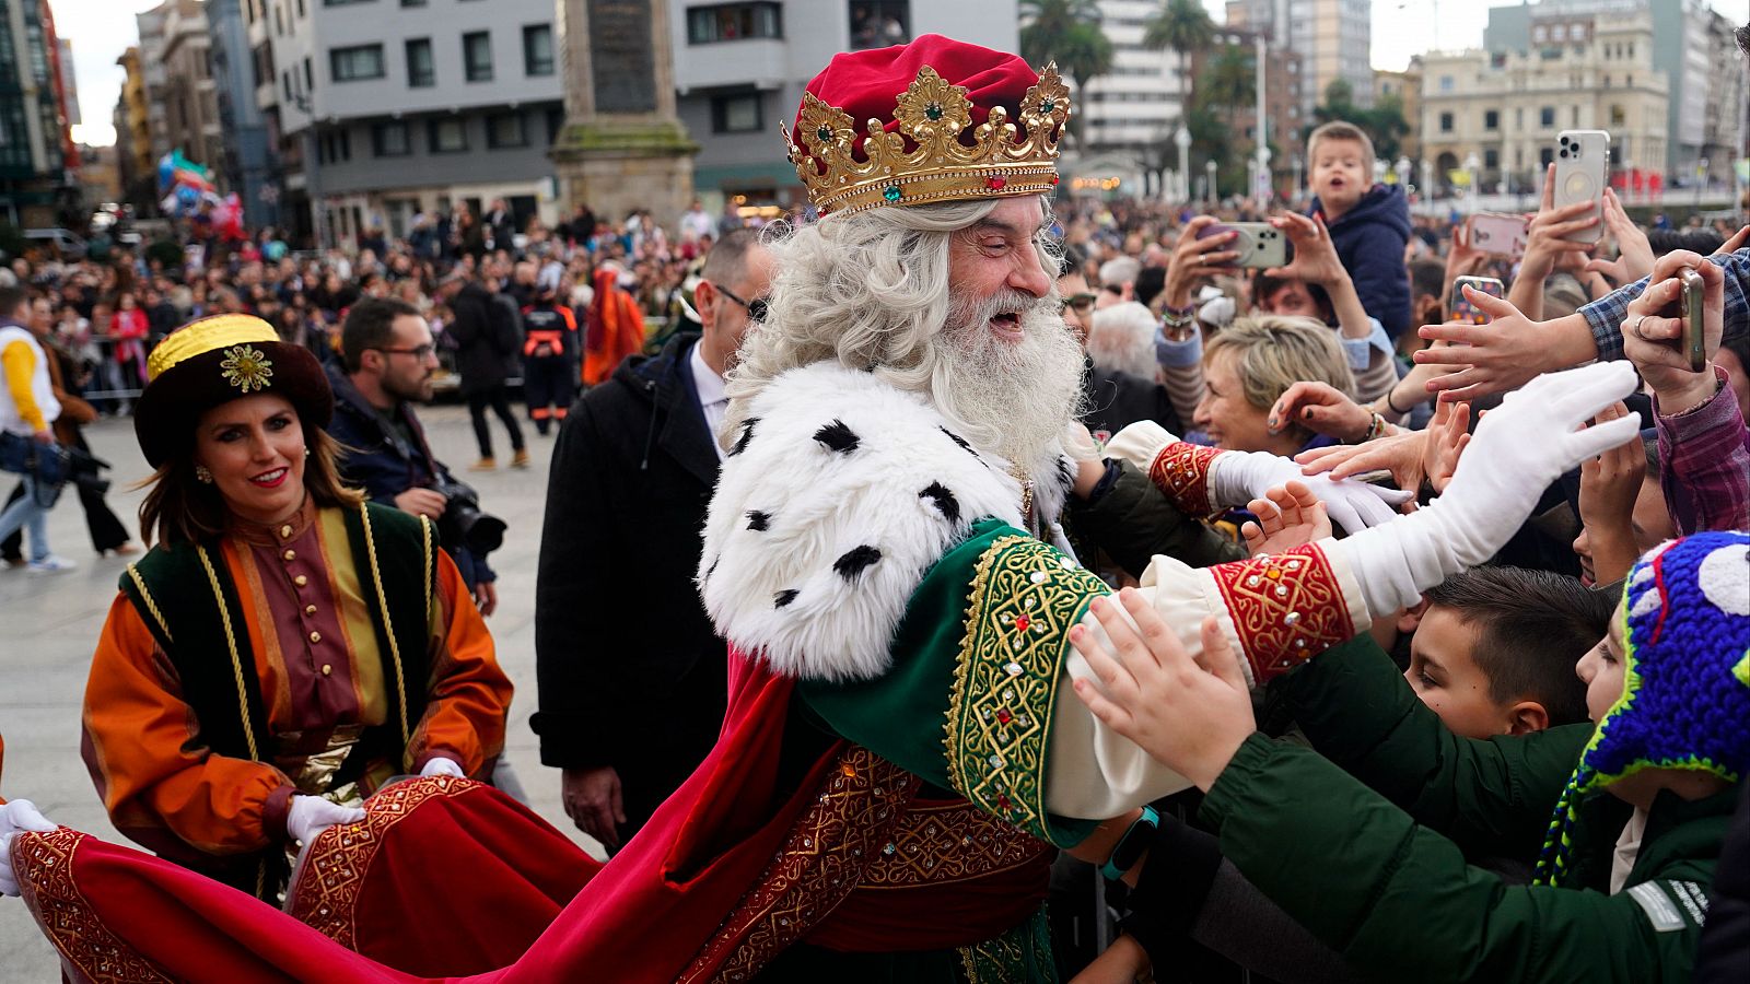
<path fill-rule="evenodd" d="M 1741 298 L 1743 294 L 1740 294 Z M 1699 531 L 1750 529 L 1750 427 L 1738 399 L 1715 366 L 1718 392 L 1685 413 L 1659 413 L 1659 485 L 1678 536 Z"/>

